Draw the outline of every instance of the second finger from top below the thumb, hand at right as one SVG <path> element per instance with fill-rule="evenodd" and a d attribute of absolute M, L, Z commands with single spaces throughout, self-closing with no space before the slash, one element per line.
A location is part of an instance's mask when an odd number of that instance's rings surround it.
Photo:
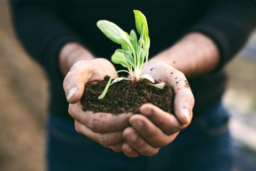
<path fill-rule="evenodd" d="M 153 147 L 164 147 L 176 137 L 166 135 L 143 115 L 133 115 L 129 121 L 136 132 Z"/>

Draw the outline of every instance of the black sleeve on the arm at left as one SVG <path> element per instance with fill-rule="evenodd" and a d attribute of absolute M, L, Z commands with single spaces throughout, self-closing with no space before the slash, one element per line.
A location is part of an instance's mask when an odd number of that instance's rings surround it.
<path fill-rule="evenodd" d="M 27 52 L 50 78 L 61 76 L 58 56 L 61 47 L 81 40 L 62 22 L 54 1 L 10 1 L 12 20 Z"/>

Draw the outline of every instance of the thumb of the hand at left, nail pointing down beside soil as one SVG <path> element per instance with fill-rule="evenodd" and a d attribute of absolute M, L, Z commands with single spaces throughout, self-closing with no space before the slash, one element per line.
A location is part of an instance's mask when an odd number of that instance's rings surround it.
<path fill-rule="evenodd" d="M 67 101 L 71 104 L 79 101 L 83 96 L 84 85 L 91 78 L 92 74 L 86 71 L 84 66 L 74 64 L 63 81 L 63 89 Z"/>

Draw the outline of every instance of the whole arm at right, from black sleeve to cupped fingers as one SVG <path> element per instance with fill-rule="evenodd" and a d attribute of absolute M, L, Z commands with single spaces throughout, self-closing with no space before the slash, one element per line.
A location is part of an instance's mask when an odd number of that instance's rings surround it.
<path fill-rule="evenodd" d="M 170 72 L 178 79 L 184 79 L 185 75 L 194 78 L 218 70 L 243 46 L 254 28 L 255 15 L 256 5 L 252 1 L 215 5 L 205 18 L 188 30 L 187 35 L 150 59 L 145 72 L 156 80 L 161 78 L 163 82 L 175 85 L 175 79 L 167 75 Z M 123 133 L 126 143 L 122 149 L 127 156 L 154 156 L 159 148 L 171 143 L 190 124 L 194 98 L 183 87 L 172 87 L 175 117 L 150 104 L 140 108 L 142 115 L 131 116 L 132 127 Z"/>

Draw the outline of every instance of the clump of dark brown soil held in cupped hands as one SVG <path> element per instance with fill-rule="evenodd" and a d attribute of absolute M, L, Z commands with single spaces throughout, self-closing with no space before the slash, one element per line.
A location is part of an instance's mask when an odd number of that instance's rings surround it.
<path fill-rule="evenodd" d="M 88 83 L 84 88 L 84 95 L 81 99 L 84 111 L 93 111 L 121 114 L 139 113 L 142 104 L 153 104 L 165 112 L 173 113 L 173 93 L 171 87 L 166 85 L 163 89 L 158 89 L 141 80 L 132 83 L 130 80 L 122 80 L 109 87 L 106 96 L 98 99 L 104 90 L 109 76 L 97 84 Z"/>

